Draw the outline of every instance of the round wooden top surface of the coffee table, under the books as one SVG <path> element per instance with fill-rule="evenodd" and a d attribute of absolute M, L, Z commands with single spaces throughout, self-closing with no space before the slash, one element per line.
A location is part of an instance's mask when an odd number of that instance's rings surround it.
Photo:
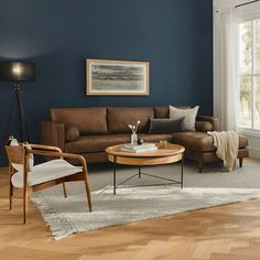
<path fill-rule="evenodd" d="M 127 158 L 161 158 L 161 156 L 171 156 L 183 153 L 185 148 L 178 144 L 167 143 L 166 148 L 160 148 L 160 144 L 156 143 L 159 149 L 156 151 L 147 151 L 147 152 L 124 152 L 121 151 L 123 144 L 117 144 L 108 147 L 106 152 L 111 155 L 117 156 L 127 156 Z"/>

